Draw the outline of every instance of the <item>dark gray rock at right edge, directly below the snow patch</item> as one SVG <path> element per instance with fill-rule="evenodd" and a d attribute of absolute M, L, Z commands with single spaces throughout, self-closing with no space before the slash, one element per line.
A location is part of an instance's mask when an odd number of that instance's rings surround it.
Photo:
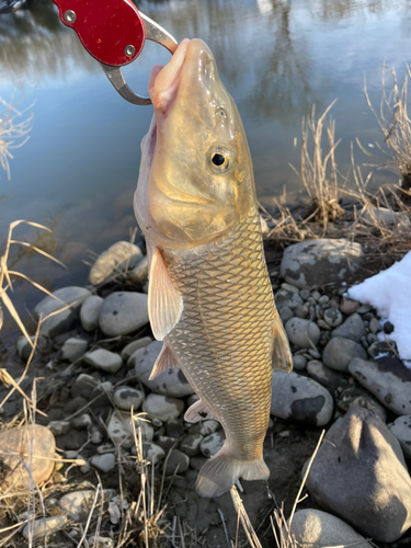
<path fill-rule="evenodd" d="M 411 414 L 411 370 L 397 358 L 375 362 L 354 358 L 349 370 L 385 407 L 399 415 Z"/>

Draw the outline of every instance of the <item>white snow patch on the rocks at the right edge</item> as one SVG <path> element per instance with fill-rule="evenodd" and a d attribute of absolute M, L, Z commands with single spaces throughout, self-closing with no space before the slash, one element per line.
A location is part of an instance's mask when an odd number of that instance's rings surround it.
<path fill-rule="evenodd" d="M 387 339 L 397 343 L 402 361 L 411 368 L 411 251 L 386 271 L 351 287 L 349 296 L 372 305 L 395 330 Z"/>

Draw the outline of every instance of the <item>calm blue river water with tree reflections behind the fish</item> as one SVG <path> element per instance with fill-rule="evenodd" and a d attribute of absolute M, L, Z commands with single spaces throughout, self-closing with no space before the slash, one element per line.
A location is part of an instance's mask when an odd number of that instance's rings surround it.
<path fill-rule="evenodd" d="M 355 137 L 369 149 L 381 141 L 363 81 L 366 77 L 378 105 L 384 62 L 403 77 L 411 56 L 409 0 L 141 0 L 137 5 L 178 41 L 201 37 L 210 46 L 242 115 L 264 203 L 284 189 L 301 189 L 289 163 L 298 168 L 301 116 L 312 104 L 320 113 L 338 98 L 332 116 L 343 173 Z M 130 87 L 145 94 L 150 67 L 168 59 L 161 46 L 147 43 L 124 71 Z M 151 107 L 130 105 L 115 93 L 52 2 L 0 15 L 0 96 L 14 105 L 15 123 L 33 115 L 28 141 L 11 150 L 11 180 L 0 170 L 0 239 L 4 242 L 14 219 L 42 222 L 53 236 L 18 227 L 15 237 L 54 252 L 67 269 L 16 250 L 10 264 L 49 289 L 82 285 L 91 253 L 128 239 L 136 227 L 132 196 Z M 4 110 L 0 103 L 0 117 Z M 358 149 L 355 155 L 358 163 L 367 161 Z M 379 170 L 373 184 L 397 179 Z M 39 298 L 28 283 L 15 284 L 23 317 Z M 5 317 L 3 339 L 10 324 Z"/>

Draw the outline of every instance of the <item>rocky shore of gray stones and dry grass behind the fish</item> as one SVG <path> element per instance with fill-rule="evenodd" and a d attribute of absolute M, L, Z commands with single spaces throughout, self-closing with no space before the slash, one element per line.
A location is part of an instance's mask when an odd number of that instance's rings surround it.
<path fill-rule="evenodd" d="M 269 264 L 294 372 L 273 373 L 269 483 L 238 486 L 263 547 L 275 546 L 270 515 L 284 503 L 288 517 L 322 429 L 292 524 L 299 545 L 411 543 L 411 370 L 384 338 L 395 326 L 344 295 L 363 253 L 344 239 L 316 239 L 286 248 L 279 270 Z M 180 369 L 149 380 L 162 343 L 148 323 L 147 269 L 137 246 L 117 242 L 85 287 L 60 288 L 33 310 L 48 318 L 21 389 L 42 413 L 22 426 L 19 391 L 0 410 L 2 539 L 216 548 L 236 538 L 229 494 L 207 500 L 194 490 L 224 443 L 219 423 L 184 422 L 197 397 Z M 14 379 L 31 350 L 20 338 L 4 354 Z M 43 486 L 43 503 L 27 510 L 34 486 Z"/>

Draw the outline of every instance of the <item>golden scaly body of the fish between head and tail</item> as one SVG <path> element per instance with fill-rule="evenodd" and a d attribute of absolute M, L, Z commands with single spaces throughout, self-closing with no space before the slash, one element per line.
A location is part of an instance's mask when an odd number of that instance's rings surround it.
<path fill-rule="evenodd" d="M 221 422 L 230 450 L 252 461 L 261 458 L 270 416 L 277 315 L 258 212 L 252 208 L 227 236 L 217 237 L 212 251 L 204 249 L 164 250 L 184 306 L 164 343 Z"/>

